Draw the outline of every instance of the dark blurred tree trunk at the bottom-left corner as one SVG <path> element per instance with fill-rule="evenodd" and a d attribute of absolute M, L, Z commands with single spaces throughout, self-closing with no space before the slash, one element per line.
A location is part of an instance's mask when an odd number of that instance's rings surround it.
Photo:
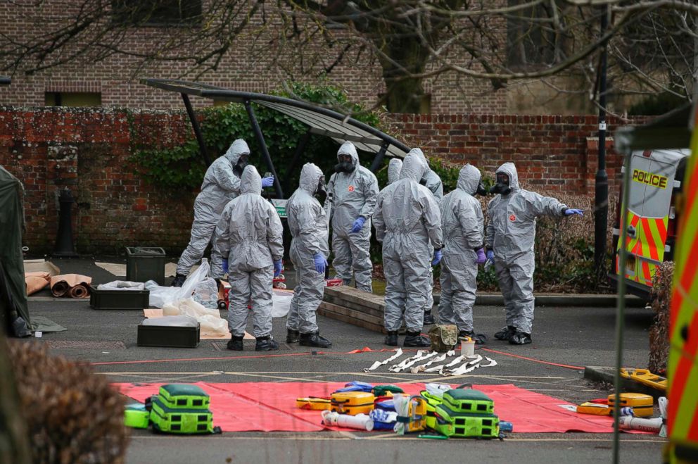
<path fill-rule="evenodd" d="M 27 426 L 19 408 L 15 376 L 0 328 L 0 463 L 31 463 Z"/>

